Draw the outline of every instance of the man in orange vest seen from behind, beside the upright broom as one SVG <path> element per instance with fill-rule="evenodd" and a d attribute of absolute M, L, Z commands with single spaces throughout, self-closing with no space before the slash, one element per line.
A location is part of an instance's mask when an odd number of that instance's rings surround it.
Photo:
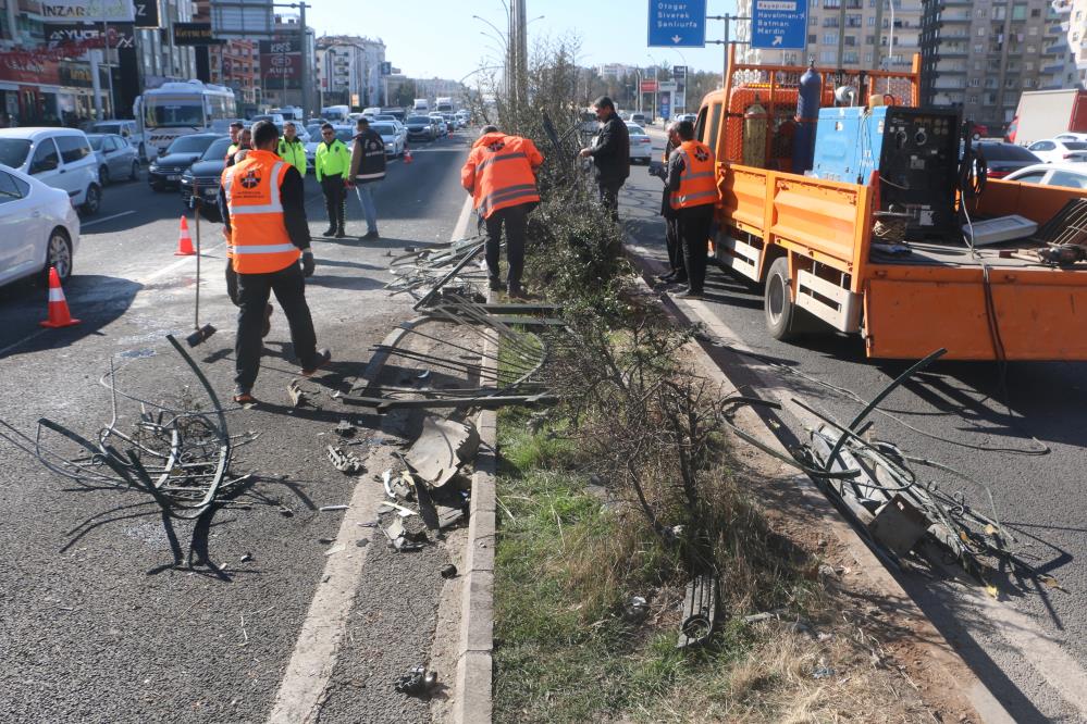
<path fill-rule="evenodd" d="M 298 170 L 280 158 L 280 132 L 268 121 L 252 127 L 254 148 L 223 171 L 219 208 L 237 273 L 238 334 L 234 342 L 234 401 L 256 402 L 252 386 L 260 370 L 260 341 L 269 294 L 283 308 L 301 374 L 312 375 L 332 359 L 317 349 L 306 303 L 306 279 L 313 274 L 306 199 Z M 301 259 L 301 269 L 298 261 Z"/>

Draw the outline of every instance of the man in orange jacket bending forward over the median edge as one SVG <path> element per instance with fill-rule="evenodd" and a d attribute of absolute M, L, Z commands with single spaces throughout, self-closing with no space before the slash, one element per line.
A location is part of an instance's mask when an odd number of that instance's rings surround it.
<path fill-rule="evenodd" d="M 524 227 L 529 213 L 540 203 L 536 171 L 543 154 L 528 138 L 507 136 L 496 126 L 483 126 L 460 170 L 460 184 L 472 195 L 472 205 L 486 223 L 486 269 L 491 289 L 502 289 L 498 276 L 498 248 L 506 227 L 506 257 L 509 274 L 506 290 L 522 297 Z"/>

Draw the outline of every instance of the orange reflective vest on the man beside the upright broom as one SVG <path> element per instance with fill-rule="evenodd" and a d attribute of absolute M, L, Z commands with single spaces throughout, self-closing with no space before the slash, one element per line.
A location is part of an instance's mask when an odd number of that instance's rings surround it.
<path fill-rule="evenodd" d="M 280 187 L 289 168 L 276 153 L 252 150 L 244 161 L 223 171 L 231 251 L 238 274 L 279 272 L 301 255 L 283 224 Z"/>

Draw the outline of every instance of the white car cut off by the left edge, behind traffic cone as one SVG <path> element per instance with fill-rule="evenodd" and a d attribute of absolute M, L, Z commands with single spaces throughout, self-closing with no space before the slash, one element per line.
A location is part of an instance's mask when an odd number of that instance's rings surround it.
<path fill-rule="evenodd" d="M 63 282 L 79 246 L 79 216 L 69 195 L 0 165 L 0 284 L 40 274 L 50 266 Z"/>

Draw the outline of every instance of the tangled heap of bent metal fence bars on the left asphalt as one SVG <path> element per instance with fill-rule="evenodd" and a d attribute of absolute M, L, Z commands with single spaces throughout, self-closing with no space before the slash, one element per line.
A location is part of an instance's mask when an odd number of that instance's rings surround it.
<path fill-rule="evenodd" d="M 207 377 L 173 337 L 166 339 L 199 379 L 211 402 L 210 412 L 195 405 L 172 409 L 124 392 L 116 385 L 111 360 L 110 371 L 100 383 L 110 390 L 112 416 L 96 440 L 45 417 L 38 421 L 33 438 L 0 421 L 0 437 L 35 455 L 50 471 L 82 485 L 144 490 L 164 513 L 178 519 L 198 517 L 219 497 L 249 478 L 235 476 L 231 463 L 234 450 L 257 435 L 231 436 L 223 408 Z M 128 429 L 119 422 L 119 398 L 139 404 L 139 414 L 133 415 L 135 422 Z M 74 444 L 79 452 L 64 454 L 47 447 L 44 438 L 49 433 Z"/>

